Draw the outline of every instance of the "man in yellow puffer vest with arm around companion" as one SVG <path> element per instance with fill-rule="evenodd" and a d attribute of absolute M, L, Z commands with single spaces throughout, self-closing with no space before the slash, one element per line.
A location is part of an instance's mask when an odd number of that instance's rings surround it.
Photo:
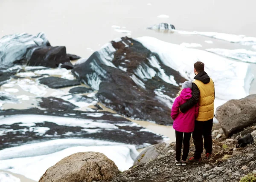
<path fill-rule="evenodd" d="M 199 114 L 195 119 L 195 129 L 192 134 L 195 153 L 189 159 L 189 162 L 200 163 L 204 148 L 206 150 L 206 159 L 212 156 L 212 122 L 214 117 L 214 82 L 204 71 L 204 63 L 198 61 L 194 64 L 195 81 L 192 83 L 192 97 L 183 105 L 180 105 L 180 111 L 185 113 L 193 105 L 199 104 Z"/>

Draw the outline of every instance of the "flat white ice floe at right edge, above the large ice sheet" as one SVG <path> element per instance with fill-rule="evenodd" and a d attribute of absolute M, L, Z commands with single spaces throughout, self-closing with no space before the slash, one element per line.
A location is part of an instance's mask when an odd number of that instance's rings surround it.
<path fill-rule="evenodd" d="M 224 48 L 208 48 L 206 49 L 209 52 L 229 57 L 235 60 L 240 60 L 247 63 L 256 63 L 256 52 L 255 51 L 249 51 L 246 49 L 224 49 Z"/>

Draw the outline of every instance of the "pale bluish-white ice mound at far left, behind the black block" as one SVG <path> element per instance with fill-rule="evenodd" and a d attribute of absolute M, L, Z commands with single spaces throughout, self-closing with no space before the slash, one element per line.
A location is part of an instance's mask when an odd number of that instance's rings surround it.
<path fill-rule="evenodd" d="M 35 46 L 50 46 L 45 34 L 12 34 L 0 39 L 0 67 L 9 68 L 23 63 L 27 50 Z"/>

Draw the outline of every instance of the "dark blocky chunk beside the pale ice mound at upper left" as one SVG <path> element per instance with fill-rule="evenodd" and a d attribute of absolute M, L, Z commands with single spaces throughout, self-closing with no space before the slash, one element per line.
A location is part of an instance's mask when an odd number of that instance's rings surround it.
<path fill-rule="evenodd" d="M 37 46 L 31 48 L 26 54 L 26 60 L 29 66 L 45 66 L 49 68 L 57 68 L 59 64 L 70 62 L 64 46 Z"/>

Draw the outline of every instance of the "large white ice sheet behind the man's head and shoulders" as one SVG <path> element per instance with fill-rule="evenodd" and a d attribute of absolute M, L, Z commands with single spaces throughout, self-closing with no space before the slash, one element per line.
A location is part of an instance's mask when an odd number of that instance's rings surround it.
<path fill-rule="evenodd" d="M 196 61 L 205 63 L 206 72 L 215 82 L 217 99 L 226 101 L 241 99 L 249 94 L 253 74 L 246 63 L 232 61 L 207 51 L 184 48 L 153 37 L 140 37 L 137 40 L 157 53 L 164 65 L 179 71 L 181 76 L 188 80 L 193 80 L 195 77 L 193 64 Z"/>

